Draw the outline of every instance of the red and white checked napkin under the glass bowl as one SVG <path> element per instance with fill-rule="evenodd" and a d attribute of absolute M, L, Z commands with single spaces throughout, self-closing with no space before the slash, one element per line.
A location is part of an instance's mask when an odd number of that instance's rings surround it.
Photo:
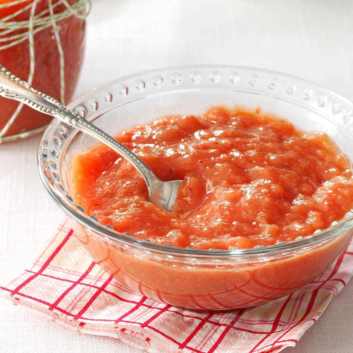
<path fill-rule="evenodd" d="M 3 297 L 73 330 L 115 337 L 151 353 L 270 353 L 295 346 L 353 272 L 353 242 L 303 289 L 271 303 L 200 313 L 148 299 L 86 255 L 67 219 Z"/>

